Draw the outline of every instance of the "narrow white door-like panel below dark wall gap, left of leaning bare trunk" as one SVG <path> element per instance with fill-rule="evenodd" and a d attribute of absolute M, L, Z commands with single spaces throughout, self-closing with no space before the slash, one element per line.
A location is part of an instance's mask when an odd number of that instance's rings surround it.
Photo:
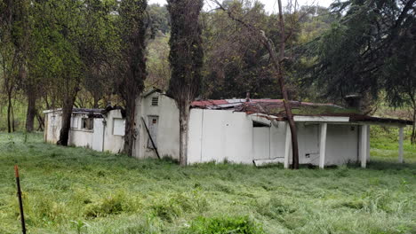
<path fill-rule="evenodd" d="M 270 159 L 270 128 L 254 127 L 252 128 L 252 148 L 254 160 Z"/>

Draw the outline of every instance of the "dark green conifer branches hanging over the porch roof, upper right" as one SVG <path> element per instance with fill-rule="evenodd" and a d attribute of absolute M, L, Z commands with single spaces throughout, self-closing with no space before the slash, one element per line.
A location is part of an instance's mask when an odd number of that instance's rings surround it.
<path fill-rule="evenodd" d="M 310 78 L 321 94 L 336 100 L 351 93 L 379 98 L 384 90 L 390 105 L 416 108 L 412 5 L 413 0 L 333 4 L 339 20 L 310 44 L 310 57 L 317 58 Z"/>

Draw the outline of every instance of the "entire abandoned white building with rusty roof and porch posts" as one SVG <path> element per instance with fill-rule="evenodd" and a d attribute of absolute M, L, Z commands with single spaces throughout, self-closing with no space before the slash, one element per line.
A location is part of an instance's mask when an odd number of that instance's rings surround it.
<path fill-rule="evenodd" d="M 298 129 L 300 164 L 324 168 L 370 160 L 370 125 L 399 128 L 399 161 L 403 161 L 403 128 L 412 121 L 377 118 L 332 104 L 292 101 Z M 44 138 L 55 143 L 60 130 L 60 111 L 46 111 Z M 120 152 L 124 120 L 119 110 L 93 118 L 75 109 L 69 144 L 98 151 Z M 99 118 L 97 118 L 99 117 Z M 91 127 L 90 127 L 91 128 Z M 99 131 L 99 133 L 96 133 Z M 137 101 L 137 158 L 179 159 L 179 111 L 172 98 L 151 90 Z M 83 135 L 83 136 L 82 136 Z M 151 137 L 149 137 L 151 136 Z M 98 138 L 98 139 L 97 139 Z M 153 144 L 152 144 L 153 140 Z M 291 131 L 279 99 L 223 99 L 194 101 L 188 125 L 188 164 L 224 160 L 235 163 L 284 163 L 292 158 Z"/>

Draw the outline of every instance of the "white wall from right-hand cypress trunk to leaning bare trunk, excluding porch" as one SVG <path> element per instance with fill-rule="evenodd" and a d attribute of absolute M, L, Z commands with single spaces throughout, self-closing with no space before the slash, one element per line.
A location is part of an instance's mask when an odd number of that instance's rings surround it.
<path fill-rule="evenodd" d="M 253 127 L 253 120 L 267 126 Z M 285 124 L 227 110 L 191 109 L 188 163 L 284 159 Z"/>

